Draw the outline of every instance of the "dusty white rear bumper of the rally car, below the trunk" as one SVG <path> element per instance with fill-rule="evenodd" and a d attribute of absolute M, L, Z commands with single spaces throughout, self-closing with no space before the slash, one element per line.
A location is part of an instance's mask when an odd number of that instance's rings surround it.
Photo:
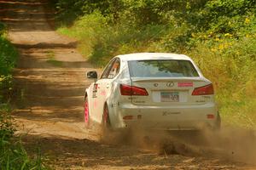
<path fill-rule="evenodd" d="M 113 128 L 119 129 L 142 127 L 159 130 L 196 130 L 206 126 L 216 127 L 218 124 L 218 110 L 214 103 L 166 106 L 124 104 L 119 105 L 116 111 L 118 120 L 116 123 L 113 122 Z"/>

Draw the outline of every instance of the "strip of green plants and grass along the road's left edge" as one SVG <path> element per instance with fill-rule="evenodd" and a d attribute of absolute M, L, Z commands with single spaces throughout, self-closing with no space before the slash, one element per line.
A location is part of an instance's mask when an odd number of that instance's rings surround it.
<path fill-rule="evenodd" d="M 20 140 L 15 139 L 15 125 L 10 116 L 12 91 L 11 71 L 15 67 L 17 51 L 6 38 L 5 26 L 0 22 L 0 169 L 46 169 L 40 150 L 37 156 L 27 156 Z"/>

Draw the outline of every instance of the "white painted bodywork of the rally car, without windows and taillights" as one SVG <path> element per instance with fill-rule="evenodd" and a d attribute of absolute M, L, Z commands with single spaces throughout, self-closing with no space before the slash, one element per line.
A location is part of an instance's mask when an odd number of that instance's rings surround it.
<path fill-rule="evenodd" d="M 93 92 L 95 83 L 86 88 L 89 102 L 90 120 L 102 122 L 104 105 L 108 105 L 109 118 L 113 129 L 125 129 L 134 126 L 163 130 L 193 130 L 205 125 L 214 127 L 217 122 L 218 108 L 214 95 L 192 96 L 195 88 L 211 84 L 203 77 L 194 61 L 183 54 L 125 54 L 113 59 L 120 60 L 119 73 L 112 79 L 98 79 L 97 92 Z M 151 59 L 182 59 L 189 60 L 198 72 L 199 77 L 130 77 L 128 61 Z M 111 61 L 110 61 L 111 62 Z M 166 88 L 166 82 L 173 82 L 172 88 Z M 190 87 L 178 87 L 183 82 L 192 82 Z M 154 87 L 154 83 L 158 86 Z M 148 96 L 124 96 L 120 94 L 120 84 L 146 88 Z M 161 102 L 162 92 L 179 93 L 179 102 Z M 95 96 L 96 94 L 96 96 Z M 207 115 L 214 116 L 213 119 Z M 124 120 L 124 116 L 133 116 Z"/>

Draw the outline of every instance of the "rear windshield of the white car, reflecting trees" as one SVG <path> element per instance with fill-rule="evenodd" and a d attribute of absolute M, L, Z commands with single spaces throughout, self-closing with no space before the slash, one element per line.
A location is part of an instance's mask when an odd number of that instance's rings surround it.
<path fill-rule="evenodd" d="M 199 77 L 189 60 L 128 61 L 131 77 Z"/>

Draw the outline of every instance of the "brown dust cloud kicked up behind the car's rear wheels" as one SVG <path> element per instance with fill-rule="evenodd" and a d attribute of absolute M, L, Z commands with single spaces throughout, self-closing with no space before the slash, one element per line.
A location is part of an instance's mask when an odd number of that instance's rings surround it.
<path fill-rule="evenodd" d="M 104 139 L 105 138 L 105 139 Z M 236 127 L 222 127 L 218 131 L 143 131 L 132 128 L 112 132 L 101 142 L 127 144 L 150 150 L 159 155 L 204 156 L 256 165 L 256 132 Z"/>

